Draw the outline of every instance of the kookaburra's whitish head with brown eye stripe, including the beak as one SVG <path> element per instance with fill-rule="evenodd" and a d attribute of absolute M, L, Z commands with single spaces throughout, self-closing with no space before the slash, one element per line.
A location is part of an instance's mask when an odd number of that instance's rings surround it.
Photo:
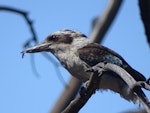
<path fill-rule="evenodd" d="M 25 53 L 65 51 L 74 46 L 79 47 L 86 40 L 86 36 L 80 32 L 72 30 L 60 30 L 50 34 L 43 42 L 22 51 Z"/>

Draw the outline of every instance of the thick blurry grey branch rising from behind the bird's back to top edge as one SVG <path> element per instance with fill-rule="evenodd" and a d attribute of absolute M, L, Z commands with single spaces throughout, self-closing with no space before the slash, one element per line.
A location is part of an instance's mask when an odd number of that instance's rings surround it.
<path fill-rule="evenodd" d="M 96 24 L 90 35 L 92 42 L 101 42 L 104 35 L 106 34 L 108 28 L 113 22 L 119 8 L 121 6 L 122 0 L 109 0 L 109 3 L 104 10 L 103 14 L 98 17 Z"/>

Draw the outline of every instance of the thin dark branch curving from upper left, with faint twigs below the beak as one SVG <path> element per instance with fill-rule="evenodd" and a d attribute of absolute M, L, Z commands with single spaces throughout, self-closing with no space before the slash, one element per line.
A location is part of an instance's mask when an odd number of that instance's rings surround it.
<path fill-rule="evenodd" d="M 38 43 L 38 38 L 37 38 L 37 35 L 36 35 L 36 32 L 35 32 L 35 29 L 33 27 L 33 22 L 32 20 L 29 18 L 29 15 L 26 11 L 23 11 L 23 10 L 20 10 L 20 9 L 17 9 L 17 8 L 13 8 L 13 7 L 9 7 L 9 6 L 0 6 L 0 11 L 9 11 L 9 12 L 13 12 L 13 13 L 17 13 L 17 14 L 20 14 L 21 16 L 24 17 L 25 21 L 27 22 L 27 25 L 29 26 L 29 29 L 30 29 L 30 32 L 31 32 L 31 35 L 32 37 L 29 38 L 25 43 L 24 43 L 24 48 L 26 47 L 29 47 L 31 46 L 31 43 L 34 42 L 35 44 Z M 54 65 L 54 68 L 56 70 L 56 73 L 58 75 L 58 78 L 59 80 L 63 83 L 63 85 L 66 85 L 66 82 L 64 81 L 59 69 L 58 69 L 58 66 L 61 66 L 58 62 L 56 62 L 52 57 L 50 57 L 50 55 L 48 55 L 47 53 L 42 53 L 42 55 L 48 59 L 49 61 L 51 61 L 51 63 Z M 36 65 L 35 65 L 35 62 L 34 62 L 34 57 L 31 56 L 31 65 L 32 65 L 32 68 L 33 68 L 33 72 L 34 74 L 39 77 L 39 73 L 36 69 Z"/>

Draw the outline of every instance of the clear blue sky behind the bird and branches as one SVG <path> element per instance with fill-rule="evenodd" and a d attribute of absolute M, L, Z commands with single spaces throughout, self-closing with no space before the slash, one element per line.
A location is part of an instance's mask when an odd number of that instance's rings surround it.
<path fill-rule="evenodd" d="M 0 4 L 29 12 L 38 39 L 42 41 L 48 34 L 60 29 L 78 30 L 88 36 L 91 21 L 103 12 L 107 0 L 1 0 Z M 118 52 L 148 78 L 150 49 L 139 14 L 137 0 L 124 1 L 102 44 Z M 35 54 L 40 74 L 36 77 L 31 55 L 26 54 L 22 59 L 20 54 L 22 45 L 31 37 L 24 18 L 4 11 L 0 11 L 0 18 L 0 113 L 48 113 L 64 88 L 53 64 L 41 54 Z M 59 69 L 67 82 L 70 74 L 63 67 Z M 145 93 L 150 98 L 150 93 Z M 137 105 L 118 94 L 98 91 L 80 113 L 118 113 L 136 108 Z"/>

